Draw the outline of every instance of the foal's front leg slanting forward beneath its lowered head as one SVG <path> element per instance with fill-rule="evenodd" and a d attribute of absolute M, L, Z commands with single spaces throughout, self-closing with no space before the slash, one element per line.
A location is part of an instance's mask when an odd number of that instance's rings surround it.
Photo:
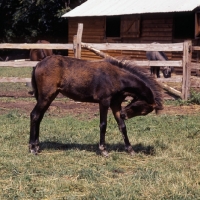
<path fill-rule="evenodd" d="M 115 120 L 117 121 L 119 130 L 122 133 L 124 143 L 125 143 L 125 150 L 128 153 L 130 153 L 131 155 L 134 155 L 135 152 L 134 152 L 134 150 L 131 146 L 131 143 L 129 142 L 129 139 L 128 139 L 126 124 L 125 124 L 124 120 L 120 117 L 121 104 L 111 105 L 111 109 L 112 109 L 113 115 L 115 117 Z"/>

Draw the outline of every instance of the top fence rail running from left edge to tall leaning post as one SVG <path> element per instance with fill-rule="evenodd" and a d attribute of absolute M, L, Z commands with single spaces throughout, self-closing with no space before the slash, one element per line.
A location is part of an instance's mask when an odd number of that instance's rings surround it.
<path fill-rule="evenodd" d="M 0 49 L 73 49 L 73 44 L 0 43 Z"/>

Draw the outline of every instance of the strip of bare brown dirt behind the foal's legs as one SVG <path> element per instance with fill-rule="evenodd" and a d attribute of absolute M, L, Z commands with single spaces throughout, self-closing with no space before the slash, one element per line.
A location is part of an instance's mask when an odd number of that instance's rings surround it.
<path fill-rule="evenodd" d="M 10 101 L 5 101 L 1 97 L 11 97 Z M 0 95 L 0 113 L 7 112 L 8 110 L 19 109 L 22 112 L 30 114 L 33 110 L 36 101 L 34 97 L 29 100 L 20 99 L 20 97 L 31 97 L 27 92 L 7 92 L 6 95 Z M 199 105 L 190 106 L 172 106 L 166 105 L 164 110 L 160 111 L 160 114 L 171 115 L 188 115 L 198 114 L 200 112 Z M 53 101 L 47 113 L 49 115 L 64 116 L 66 114 L 72 114 L 77 117 L 81 115 L 87 115 L 87 118 L 93 118 L 99 115 L 99 106 L 94 103 L 81 103 L 73 100 L 68 100 L 59 95 L 57 99 Z"/>

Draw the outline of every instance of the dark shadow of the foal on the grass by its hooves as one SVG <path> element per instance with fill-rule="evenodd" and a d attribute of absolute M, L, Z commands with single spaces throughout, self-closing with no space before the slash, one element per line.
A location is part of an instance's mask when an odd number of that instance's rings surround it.
<path fill-rule="evenodd" d="M 118 143 L 118 144 L 107 144 L 106 145 L 107 150 L 110 152 L 112 150 L 117 151 L 117 152 L 125 152 L 124 144 Z M 155 155 L 155 148 L 154 146 L 145 146 L 141 143 L 132 145 L 133 150 L 136 153 L 142 153 L 145 155 Z M 70 150 L 70 149 L 78 149 L 78 150 L 86 150 L 90 152 L 96 152 L 97 154 L 100 154 L 99 147 L 96 144 L 77 144 L 77 143 L 72 143 L 72 144 L 63 144 L 59 142 L 41 142 L 40 143 L 40 151 L 44 149 L 55 149 L 55 150 Z"/>

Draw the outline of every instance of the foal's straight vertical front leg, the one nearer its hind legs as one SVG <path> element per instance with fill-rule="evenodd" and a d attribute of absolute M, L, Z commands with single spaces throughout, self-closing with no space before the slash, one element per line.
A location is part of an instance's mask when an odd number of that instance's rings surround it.
<path fill-rule="evenodd" d="M 99 149 L 103 156 L 108 156 L 108 151 L 106 150 L 105 144 L 105 134 L 106 134 L 106 127 L 107 127 L 107 115 L 108 115 L 108 106 L 103 106 L 99 104 L 100 110 L 100 142 L 99 142 Z"/>

